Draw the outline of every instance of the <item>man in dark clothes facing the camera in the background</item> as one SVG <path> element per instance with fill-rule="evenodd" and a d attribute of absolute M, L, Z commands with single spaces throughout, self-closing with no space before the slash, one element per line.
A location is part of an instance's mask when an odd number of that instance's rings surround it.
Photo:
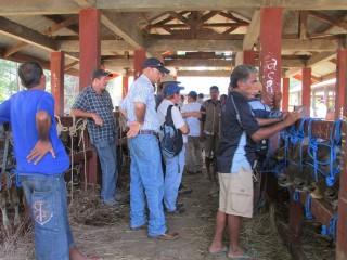
<path fill-rule="evenodd" d="M 206 100 L 201 112 L 201 141 L 205 141 L 205 164 L 208 180 L 217 182 L 216 156 L 219 150 L 219 118 L 220 101 L 218 100 L 219 89 L 217 86 L 209 88 L 210 99 Z M 213 169 L 210 166 L 213 165 Z"/>

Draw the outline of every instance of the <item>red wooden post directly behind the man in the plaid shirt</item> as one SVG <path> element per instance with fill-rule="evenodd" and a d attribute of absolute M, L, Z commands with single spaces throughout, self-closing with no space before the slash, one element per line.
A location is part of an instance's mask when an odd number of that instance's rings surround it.
<path fill-rule="evenodd" d="M 101 41 L 100 41 L 100 11 L 97 9 L 85 9 L 79 12 L 79 90 L 91 83 L 93 70 L 101 66 Z M 88 183 L 101 183 L 101 171 L 98 167 L 98 155 L 95 147 L 87 138 L 87 146 L 92 148 L 92 156 L 88 160 Z"/>

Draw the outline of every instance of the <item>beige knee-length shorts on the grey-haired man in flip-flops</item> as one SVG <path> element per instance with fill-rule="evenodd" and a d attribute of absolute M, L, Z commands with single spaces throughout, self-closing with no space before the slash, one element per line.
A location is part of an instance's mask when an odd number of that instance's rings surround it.
<path fill-rule="evenodd" d="M 218 173 L 219 211 L 253 217 L 253 171 L 240 168 L 239 173 Z"/>

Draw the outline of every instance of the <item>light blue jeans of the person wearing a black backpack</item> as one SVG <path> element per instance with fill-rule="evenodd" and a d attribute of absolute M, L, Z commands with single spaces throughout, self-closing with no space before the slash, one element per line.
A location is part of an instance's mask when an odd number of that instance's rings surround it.
<path fill-rule="evenodd" d="M 164 204 L 167 211 L 176 210 L 176 202 L 178 188 L 182 181 L 182 172 L 184 167 L 184 146 L 182 151 L 174 158 L 164 156 L 166 171 L 164 181 Z"/>

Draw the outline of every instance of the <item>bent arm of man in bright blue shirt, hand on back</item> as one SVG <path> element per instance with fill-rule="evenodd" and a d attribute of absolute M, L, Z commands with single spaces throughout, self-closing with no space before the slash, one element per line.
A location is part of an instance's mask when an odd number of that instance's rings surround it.
<path fill-rule="evenodd" d="M 34 165 L 37 165 L 47 153 L 51 153 L 53 158 L 55 158 L 55 153 L 49 139 L 51 125 L 51 117 L 47 112 L 39 110 L 36 113 L 36 128 L 40 139 L 37 141 L 34 148 L 26 157 L 29 162 L 36 158 Z"/>

